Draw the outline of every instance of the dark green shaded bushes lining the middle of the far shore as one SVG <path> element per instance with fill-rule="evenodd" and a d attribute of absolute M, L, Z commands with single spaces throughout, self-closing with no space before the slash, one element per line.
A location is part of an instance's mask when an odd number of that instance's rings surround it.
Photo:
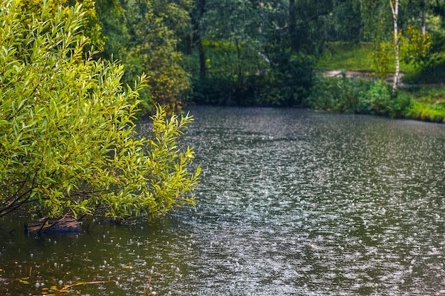
<path fill-rule="evenodd" d="M 301 106 L 309 95 L 314 63 L 309 55 L 280 48 L 266 57 L 251 50 L 240 62 L 242 71 L 235 71 L 236 60 L 228 58 L 236 56 L 235 47 L 215 43 L 208 50 L 212 58 L 207 62 L 207 75 L 195 74 L 192 80 L 193 101 L 197 104 Z"/>

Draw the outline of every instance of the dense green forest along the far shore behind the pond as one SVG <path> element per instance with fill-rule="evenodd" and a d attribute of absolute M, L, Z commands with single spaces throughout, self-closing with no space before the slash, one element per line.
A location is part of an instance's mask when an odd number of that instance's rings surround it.
<path fill-rule="evenodd" d="M 445 91 L 419 87 L 445 76 L 443 0 L 77 2 L 95 57 L 122 63 L 125 84 L 149 76 L 141 116 L 156 104 L 220 104 L 445 119 Z M 325 70 L 360 70 L 367 79 L 323 77 Z M 388 80 L 396 70 L 403 89 Z"/>

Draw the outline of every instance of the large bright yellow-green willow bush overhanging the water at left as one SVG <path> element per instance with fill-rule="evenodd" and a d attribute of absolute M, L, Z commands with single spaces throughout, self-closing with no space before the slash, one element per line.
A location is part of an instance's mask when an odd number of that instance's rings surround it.
<path fill-rule="evenodd" d="M 193 203 L 193 150 L 176 139 L 193 120 L 159 107 L 152 135 L 136 134 L 138 92 L 121 65 L 85 58 L 76 5 L 0 3 L 0 216 L 100 214 L 112 219 L 162 214 Z"/>

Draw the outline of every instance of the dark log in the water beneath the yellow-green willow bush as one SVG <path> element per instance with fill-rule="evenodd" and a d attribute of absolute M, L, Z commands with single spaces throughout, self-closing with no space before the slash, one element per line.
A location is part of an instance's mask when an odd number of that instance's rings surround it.
<path fill-rule="evenodd" d="M 73 217 L 63 217 L 61 219 L 38 219 L 25 224 L 28 233 L 60 233 L 79 232 L 79 222 Z"/>

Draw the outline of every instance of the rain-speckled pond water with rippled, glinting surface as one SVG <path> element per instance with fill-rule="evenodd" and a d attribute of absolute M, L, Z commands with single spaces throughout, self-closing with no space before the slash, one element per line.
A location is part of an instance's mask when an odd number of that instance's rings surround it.
<path fill-rule="evenodd" d="M 74 236 L 6 217 L 0 295 L 445 295 L 445 125 L 191 114 L 195 209 Z"/>

